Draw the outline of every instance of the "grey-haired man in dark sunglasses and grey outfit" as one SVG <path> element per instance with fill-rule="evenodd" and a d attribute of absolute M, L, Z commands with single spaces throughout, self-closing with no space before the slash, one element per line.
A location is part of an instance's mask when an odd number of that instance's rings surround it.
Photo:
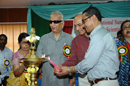
<path fill-rule="evenodd" d="M 49 23 L 52 32 L 41 37 L 36 54 L 37 57 L 42 57 L 45 54 L 56 65 L 62 64 L 67 59 L 63 54 L 63 48 L 65 45 L 70 46 L 73 38 L 62 31 L 64 21 L 63 15 L 60 12 L 52 13 Z M 44 60 L 42 65 L 42 86 L 68 86 L 68 76 L 56 76 L 53 68 L 48 60 Z"/>

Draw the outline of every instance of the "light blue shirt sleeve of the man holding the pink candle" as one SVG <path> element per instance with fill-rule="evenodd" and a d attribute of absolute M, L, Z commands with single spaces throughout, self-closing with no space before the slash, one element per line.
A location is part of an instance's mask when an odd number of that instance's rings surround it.
<path fill-rule="evenodd" d="M 108 39 L 110 39 L 109 35 L 105 35 L 105 37 L 96 35 L 91 39 L 91 43 L 84 59 L 75 67 L 80 74 L 88 72 L 99 62 L 106 47 L 110 47 L 106 45 L 106 43 L 109 43 L 110 41 Z"/>

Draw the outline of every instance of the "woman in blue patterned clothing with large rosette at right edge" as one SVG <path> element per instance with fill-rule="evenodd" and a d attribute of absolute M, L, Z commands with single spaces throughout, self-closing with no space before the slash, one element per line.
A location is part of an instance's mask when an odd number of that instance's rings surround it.
<path fill-rule="evenodd" d="M 120 86 L 130 86 L 130 20 L 121 24 L 121 31 L 124 38 L 116 42 L 121 62 L 118 81 Z"/>

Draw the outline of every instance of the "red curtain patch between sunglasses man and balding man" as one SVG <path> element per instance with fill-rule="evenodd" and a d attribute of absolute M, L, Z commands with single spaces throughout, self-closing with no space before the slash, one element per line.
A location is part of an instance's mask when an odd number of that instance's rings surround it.
<path fill-rule="evenodd" d="M 65 20 L 63 31 L 71 34 L 73 28 L 73 20 Z"/>

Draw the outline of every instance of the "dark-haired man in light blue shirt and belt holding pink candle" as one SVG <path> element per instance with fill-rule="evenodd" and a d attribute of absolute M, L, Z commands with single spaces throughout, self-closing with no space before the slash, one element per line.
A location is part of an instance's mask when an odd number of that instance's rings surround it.
<path fill-rule="evenodd" d="M 101 25 L 101 13 L 95 7 L 83 12 L 83 23 L 90 33 L 90 45 L 84 59 L 76 66 L 62 67 L 57 75 L 87 72 L 92 86 L 119 86 L 116 72 L 119 70 L 117 47 L 111 34 Z"/>

